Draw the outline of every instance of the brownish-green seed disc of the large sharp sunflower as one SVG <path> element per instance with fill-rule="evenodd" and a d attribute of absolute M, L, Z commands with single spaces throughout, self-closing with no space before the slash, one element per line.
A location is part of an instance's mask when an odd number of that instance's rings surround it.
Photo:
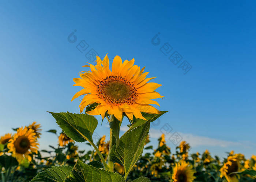
<path fill-rule="evenodd" d="M 97 88 L 99 98 L 111 105 L 133 104 L 137 98 L 136 88 L 121 76 L 109 76 Z"/>

